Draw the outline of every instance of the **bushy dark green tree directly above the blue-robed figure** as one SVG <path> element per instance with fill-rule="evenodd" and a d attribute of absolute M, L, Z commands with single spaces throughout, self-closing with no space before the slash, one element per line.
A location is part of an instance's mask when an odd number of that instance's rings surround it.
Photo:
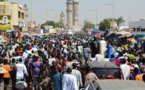
<path fill-rule="evenodd" d="M 110 20 L 108 19 L 104 19 L 103 21 L 101 21 L 101 23 L 99 24 L 99 29 L 105 31 L 106 29 L 110 28 Z"/>

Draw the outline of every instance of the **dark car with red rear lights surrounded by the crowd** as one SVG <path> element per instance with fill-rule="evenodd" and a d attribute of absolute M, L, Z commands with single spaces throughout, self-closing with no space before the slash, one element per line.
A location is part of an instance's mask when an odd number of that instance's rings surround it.
<path fill-rule="evenodd" d="M 89 61 L 87 65 L 99 79 L 121 79 L 120 68 L 109 61 Z"/>

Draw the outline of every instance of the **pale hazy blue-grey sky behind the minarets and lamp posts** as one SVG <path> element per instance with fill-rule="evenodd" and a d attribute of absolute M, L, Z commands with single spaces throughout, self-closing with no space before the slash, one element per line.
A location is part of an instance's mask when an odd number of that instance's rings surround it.
<path fill-rule="evenodd" d="M 18 2 L 22 5 L 27 4 L 30 16 L 30 1 L 31 0 L 8 0 Z M 33 0 L 32 16 L 37 24 L 42 24 L 46 21 L 46 10 L 54 9 L 48 12 L 48 20 L 58 21 L 60 13 L 65 13 L 66 19 L 66 1 L 67 0 Z M 145 18 L 145 0 L 79 0 L 79 23 L 82 25 L 85 20 L 90 20 L 96 23 L 95 12 L 90 9 L 97 9 L 97 22 L 99 23 L 105 18 L 113 17 L 113 8 L 107 4 L 114 2 L 114 17 L 123 16 L 125 24 L 129 21 L 138 21 Z M 30 20 L 30 19 L 29 19 Z"/>

